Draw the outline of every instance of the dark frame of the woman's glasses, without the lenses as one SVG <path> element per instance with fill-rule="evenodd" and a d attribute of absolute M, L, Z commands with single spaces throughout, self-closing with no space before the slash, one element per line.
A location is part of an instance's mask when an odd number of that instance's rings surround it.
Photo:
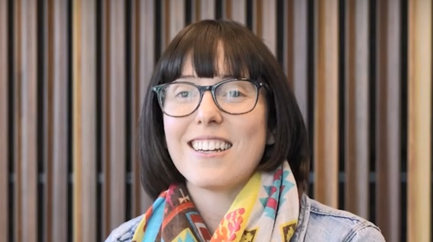
<path fill-rule="evenodd" d="M 218 101 L 216 101 L 215 90 L 216 90 L 219 86 L 221 86 L 221 85 L 223 85 L 223 84 L 225 84 L 225 83 L 235 82 L 235 81 L 239 81 L 239 80 L 246 81 L 246 82 L 250 82 L 250 83 L 254 84 L 254 86 L 256 87 L 257 94 L 256 94 L 256 100 L 255 100 L 255 102 L 254 102 L 254 106 L 253 106 L 250 110 L 248 110 L 248 111 L 246 111 L 246 112 L 243 112 L 243 113 L 231 113 L 231 112 L 227 112 L 227 111 L 225 111 L 225 110 L 220 106 L 220 104 L 218 103 Z M 258 96 L 259 96 L 259 93 L 260 93 L 260 92 L 259 92 L 259 91 L 260 91 L 260 88 L 263 87 L 263 88 L 265 88 L 266 90 L 269 91 L 269 87 L 268 87 L 268 85 L 267 85 L 266 83 L 262 83 L 262 82 L 259 82 L 259 81 L 257 81 L 257 80 L 252 80 L 252 79 L 248 79 L 248 78 L 231 78 L 231 79 L 225 79 L 225 80 L 222 80 L 221 82 L 219 82 L 219 83 L 217 83 L 217 84 L 215 84 L 215 85 L 211 85 L 211 86 L 200 86 L 200 85 L 197 85 L 197 84 L 194 84 L 194 83 L 190 83 L 190 82 L 175 82 L 175 83 L 178 83 L 178 84 L 182 84 L 182 83 L 183 83 L 183 84 L 188 84 L 188 85 L 194 86 L 194 87 L 196 87 L 197 89 L 199 89 L 199 92 L 200 92 L 200 99 L 199 99 L 199 102 L 198 102 L 197 106 L 195 107 L 195 109 L 194 109 L 192 112 L 190 112 L 189 114 L 186 114 L 186 115 L 175 116 L 175 115 L 167 114 L 167 113 L 165 112 L 165 110 L 164 110 L 164 106 L 163 106 L 163 104 L 162 104 L 162 95 L 161 95 L 161 91 L 162 91 L 166 86 L 172 85 L 173 82 L 172 82 L 172 83 L 161 84 L 161 85 L 158 85 L 158 86 L 155 86 L 155 87 L 152 88 L 152 91 L 155 92 L 156 95 L 157 95 L 158 103 L 159 103 L 159 106 L 161 107 L 162 112 L 163 112 L 165 115 L 167 115 L 167 116 L 175 117 L 175 118 L 186 117 L 186 116 L 191 115 L 191 114 L 193 114 L 194 112 L 196 112 L 196 110 L 199 108 L 199 106 L 200 106 L 200 104 L 201 104 L 201 102 L 202 102 L 203 94 L 204 94 L 204 92 L 206 92 L 206 91 L 210 91 L 210 93 L 212 94 L 213 102 L 215 103 L 215 105 L 218 107 L 219 110 L 221 110 L 221 111 L 224 112 L 224 113 L 232 114 L 232 115 L 241 115 L 241 114 L 246 114 L 246 113 L 249 113 L 249 112 L 253 111 L 254 108 L 255 108 L 256 105 L 257 105 L 257 100 L 258 100 Z"/>

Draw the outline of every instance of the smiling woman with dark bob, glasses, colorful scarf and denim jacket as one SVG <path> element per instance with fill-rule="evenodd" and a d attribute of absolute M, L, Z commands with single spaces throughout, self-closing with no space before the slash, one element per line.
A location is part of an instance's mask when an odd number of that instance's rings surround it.
<path fill-rule="evenodd" d="M 187 26 L 156 65 L 139 125 L 149 210 L 106 241 L 384 241 L 307 197 L 307 131 L 269 49 L 245 26 Z"/>

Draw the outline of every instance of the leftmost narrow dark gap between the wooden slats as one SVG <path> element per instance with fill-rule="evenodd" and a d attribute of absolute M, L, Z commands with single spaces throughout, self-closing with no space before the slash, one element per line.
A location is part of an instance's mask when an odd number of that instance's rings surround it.
<path fill-rule="evenodd" d="M 9 159 L 9 191 L 8 191 L 8 221 L 9 221 L 9 231 L 8 231 L 8 240 L 10 242 L 14 241 L 14 230 L 15 230 L 15 219 L 14 219 L 14 211 L 15 211 L 15 181 L 14 181 L 14 130 L 16 123 L 14 122 L 14 60 L 13 60 L 13 49 L 14 49 L 14 38 L 13 38 L 13 30 L 14 30 L 14 11 L 13 11 L 13 1 L 9 0 L 8 3 L 8 159 Z"/>

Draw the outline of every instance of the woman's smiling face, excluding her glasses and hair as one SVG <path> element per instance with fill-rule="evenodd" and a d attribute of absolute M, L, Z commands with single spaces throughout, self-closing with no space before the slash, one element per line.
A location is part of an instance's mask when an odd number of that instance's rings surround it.
<path fill-rule="evenodd" d="M 218 66 L 225 66 L 222 55 L 218 57 Z M 214 85 L 222 80 L 221 77 L 198 78 L 190 59 L 184 63 L 182 76 L 187 76 L 182 81 L 201 86 Z M 264 91 L 260 90 L 255 108 L 246 114 L 224 113 L 207 91 L 193 114 L 181 118 L 164 115 L 167 148 L 188 185 L 224 191 L 239 189 L 248 181 L 266 144 L 272 142 L 267 130 L 266 98 Z M 201 151 L 203 146 L 227 149 Z"/>

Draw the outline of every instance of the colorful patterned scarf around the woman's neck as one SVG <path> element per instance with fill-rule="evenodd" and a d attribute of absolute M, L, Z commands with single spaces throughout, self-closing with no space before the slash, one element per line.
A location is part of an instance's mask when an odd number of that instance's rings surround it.
<path fill-rule="evenodd" d="M 272 173 L 255 173 L 219 227 L 208 231 L 184 185 L 171 185 L 138 225 L 133 242 L 289 241 L 299 216 L 295 177 L 287 162 Z"/>

